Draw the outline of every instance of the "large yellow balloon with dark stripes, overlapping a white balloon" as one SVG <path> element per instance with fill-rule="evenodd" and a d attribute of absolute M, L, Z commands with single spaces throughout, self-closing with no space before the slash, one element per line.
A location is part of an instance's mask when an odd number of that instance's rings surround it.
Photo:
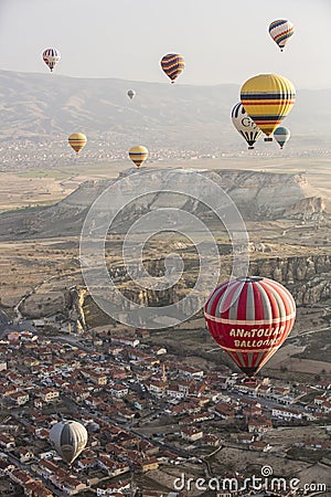
<path fill-rule="evenodd" d="M 277 74 L 259 74 L 246 81 L 241 89 L 241 101 L 254 123 L 273 141 L 270 135 L 289 114 L 296 99 L 292 83 Z"/>

